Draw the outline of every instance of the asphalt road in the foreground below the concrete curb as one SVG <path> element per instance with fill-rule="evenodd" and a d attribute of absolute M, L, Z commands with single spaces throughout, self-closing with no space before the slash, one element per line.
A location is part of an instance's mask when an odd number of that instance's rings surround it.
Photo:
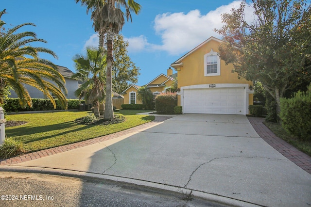
<path fill-rule="evenodd" d="M 106 180 L 1 172 L 1 207 L 224 207 L 191 196 Z"/>

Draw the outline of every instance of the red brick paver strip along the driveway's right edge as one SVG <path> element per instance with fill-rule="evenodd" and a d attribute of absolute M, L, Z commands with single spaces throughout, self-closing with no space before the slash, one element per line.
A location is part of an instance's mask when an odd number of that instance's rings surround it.
<path fill-rule="evenodd" d="M 278 152 L 280 152 L 284 157 L 294 162 L 297 166 L 302 168 L 311 174 L 311 157 L 305 153 L 299 151 L 291 144 L 285 142 L 284 140 L 278 138 L 268 127 L 266 127 L 262 122 L 264 118 L 259 117 L 247 117 L 251 125 L 254 127 L 259 136 Z"/>

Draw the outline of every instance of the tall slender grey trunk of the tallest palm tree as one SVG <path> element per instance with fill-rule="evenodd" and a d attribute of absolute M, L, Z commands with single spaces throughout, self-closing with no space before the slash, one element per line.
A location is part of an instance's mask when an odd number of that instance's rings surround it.
<path fill-rule="evenodd" d="M 109 28 L 107 31 L 107 72 L 106 72 L 106 99 L 105 99 L 105 111 L 104 119 L 111 120 L 113 119 L 113 106 L 112 106 L 112 44 L 113 44 L 113 32 Z"/>

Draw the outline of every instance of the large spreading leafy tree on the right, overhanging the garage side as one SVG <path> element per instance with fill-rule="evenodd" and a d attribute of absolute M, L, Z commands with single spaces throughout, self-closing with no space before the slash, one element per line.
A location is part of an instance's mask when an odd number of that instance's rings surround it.
<path fill-rule="evenodd" d="M 259 80 L 280 111 L 280 97 L 299 79 L 310 76 L 311 6 L 306 0 L 252 0 L 254 20 L 248 22 L 243 0 L 239 9 L 223 14 L 220 57 L 246 80 Z M 309 71 L 309 72 L 308 72 Z"/>

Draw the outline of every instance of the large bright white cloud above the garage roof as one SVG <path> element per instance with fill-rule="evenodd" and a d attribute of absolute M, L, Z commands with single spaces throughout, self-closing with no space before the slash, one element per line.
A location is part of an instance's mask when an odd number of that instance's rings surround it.
<path fill-rule="evenodd" d="M 221 28 L 223 23 L 221 14 L 230 13 L 232 8 L 237 9 L 241 1 L 233 1 L 228 5 L 218 7 L 214 11 L 202 15 L 199 10 L 192 10 L 188 14 L 166 13 L 155 17 L 155 32 L 162 38 L 162 45 L 155 47 L 178 55 L 189 51 L 210 36 L 221 38 L 214 32 Z"/>

